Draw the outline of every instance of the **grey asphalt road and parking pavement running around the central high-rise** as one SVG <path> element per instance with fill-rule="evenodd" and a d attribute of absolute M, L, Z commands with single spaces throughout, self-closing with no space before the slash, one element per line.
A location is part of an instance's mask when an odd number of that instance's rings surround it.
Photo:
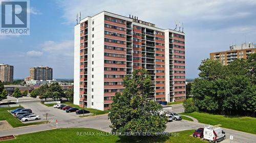
<path fill-rule="evenodd" d="M 44 125 L 36 125 L 32 127 L 23 127 L 23 128 L 15 128 L 11 130 L 5 130 L 0 131 L 0 136 L 5 135 L 18 135 L 18 134 L 26 134 L 31 132 L 37 132 L 37 131 L 44 131 L 44 130 L 50 130 L 56 128 L 56 123 L 54 122 L 55 119 L 58 119 L 58 127 L 59 128 L 72 128 L 72 127 L 86 127 L 86 128 L 94 128 L 106 132 L 110 132 L 111 128 L 109 127 L 111 125 L 110 121 L 108 120 L 108 116 L 102 115 L 97 117 L 86 117 L 86 118 L 80 118 L 75 115 L 75 113 L 66 113 L 62 112 L 60 109 L 47 107 L 45 105 L 42 105 L 39 102 L 34 103 L 26 103 L 27 107 L 33 107 L 32 110 L 34 111 L 47 111 L 51 113 L 52 117 L 49 119 L 52 121 L 50 124 L 44 124 Z M 174 105 L 173 106 L 174 111 L 182 111 L 182 105 Z M 177 132 L 182 130 L 190 130 L 190 129 L 197 129 L 199 127 L 204 127 L 205 124 L 202 123 L 195 123 L 190 122 L 186 120 L 182 121 L 173 121 L 167 123 L 166 132 Z M 233 135 L 233 141 L 232 142 L 255 142 L 256 135 L 230 130 L 230 129 L 224 129 L 226 132 L 226 139 L 221 142 L 229 142 L 229 135 Z"/>

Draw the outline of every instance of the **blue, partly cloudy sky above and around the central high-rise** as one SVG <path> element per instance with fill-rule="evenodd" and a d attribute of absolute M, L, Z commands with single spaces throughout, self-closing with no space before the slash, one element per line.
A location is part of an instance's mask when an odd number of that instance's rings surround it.
<path fill-rule="evenodd" d="M 31 0 L 30 35 L 0 35 L 0 63 L 14 66 L 14 78 L 29 76 L 29 68 L 35 66 L 52 67 L 53 78 L 73 78 L 76 14 L 81 12 L 84 18 L 108 11 L 138 16 L 164 29 L 183 22 L 186 78 L 196 78 L 198 66 L 210 52 L 256 42 L 255 6 L 255 0 Z"/>

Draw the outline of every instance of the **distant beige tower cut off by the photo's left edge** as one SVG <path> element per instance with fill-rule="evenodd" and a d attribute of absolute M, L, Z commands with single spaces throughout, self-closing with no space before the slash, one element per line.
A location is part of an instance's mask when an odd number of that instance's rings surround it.
<path fill-rule="evenodd" d="M 7 64 L 0 64 L 0 81 L 12 82 L 13 81 L 13 66 Z"/>

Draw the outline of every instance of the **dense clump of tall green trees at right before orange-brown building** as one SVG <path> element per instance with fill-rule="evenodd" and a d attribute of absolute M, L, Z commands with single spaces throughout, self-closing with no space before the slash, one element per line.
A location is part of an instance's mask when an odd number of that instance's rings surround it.
<path fill-rule="evenodd" d="M 228 66 L 219 64 L 204 60 L 199 66 L 199 78 L 191 87 L 195 105 L 206 112 L 255 116 L 256 53 Z"/>

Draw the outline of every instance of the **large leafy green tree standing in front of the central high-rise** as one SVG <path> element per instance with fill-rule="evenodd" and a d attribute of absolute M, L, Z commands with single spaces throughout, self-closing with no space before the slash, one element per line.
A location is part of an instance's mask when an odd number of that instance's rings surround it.
<path fill-rule="evenodd" d="M 160 115 L 162 106 L 148 100 L 151 95 L 151 75 L 145 69 L 134 70 L 123 78 L 123 93 L 116 93 L 109 118 L 113 132 L 161 132 L 167 118 Z"/>

